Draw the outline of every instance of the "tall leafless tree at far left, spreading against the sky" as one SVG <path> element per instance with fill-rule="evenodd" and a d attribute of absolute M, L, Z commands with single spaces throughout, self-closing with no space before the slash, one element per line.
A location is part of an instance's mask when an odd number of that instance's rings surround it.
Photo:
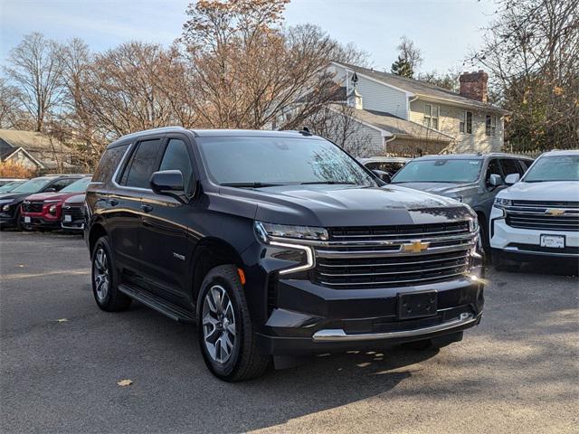
<path fill-rule="evenodd" d="M 41 33 L 30 33 L 8 56 L 5 73 L 18 87 L 17 99 L 34 118 L 34 129 L 42 131 L 62 91 L 61 47 Z"/>

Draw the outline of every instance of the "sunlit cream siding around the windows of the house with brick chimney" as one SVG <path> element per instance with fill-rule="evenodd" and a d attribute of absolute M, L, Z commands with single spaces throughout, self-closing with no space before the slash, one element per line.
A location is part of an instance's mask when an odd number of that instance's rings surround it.
<path fill-rule="evenodd" d="M 410 104 L 410 120 L 422 124 L 424 120 L 424 104 L 438 105 L 440 107 L 439 130 L 454 137 L 454 144 L 447 149 L 452 153 L 489 153 L 499 152 L 503 148 L 504 121 L 497 116 L 497 131 L 494 136 L 486 135 L 487 113 L 477 109 L 469 109 L 472 112 L 472 134 L 460 133 L 460 120 L 465 109 L 445 104 L 437 104 L 431 101 L 416 99 Z"/>

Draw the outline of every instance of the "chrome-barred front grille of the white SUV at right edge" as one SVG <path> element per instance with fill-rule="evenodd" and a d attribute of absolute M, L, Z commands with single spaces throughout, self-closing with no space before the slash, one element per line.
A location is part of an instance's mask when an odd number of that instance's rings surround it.
<path fill-rule="evenodd" d="M 514 201 L 502 208 L 511 228 L 579 231 L 579 202 Z"/>

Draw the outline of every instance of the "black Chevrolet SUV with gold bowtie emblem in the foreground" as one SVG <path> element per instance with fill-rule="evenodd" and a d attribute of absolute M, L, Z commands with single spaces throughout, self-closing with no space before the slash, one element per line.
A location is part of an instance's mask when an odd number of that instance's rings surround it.
<path fill-rule="evenodd" d="M 137 299 L 196 322 L 205 363 L 223 380 L 258 376 L 272 359 L 442 346 L 480 320 L 469 206 L 385 185 L 307 131 L 122 137 L 86 206 L 99 307 Z"/>

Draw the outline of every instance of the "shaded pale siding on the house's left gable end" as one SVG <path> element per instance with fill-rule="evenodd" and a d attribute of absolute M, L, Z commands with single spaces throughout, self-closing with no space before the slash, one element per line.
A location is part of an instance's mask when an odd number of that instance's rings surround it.
<path fill-rule="evenodd" d="M 339 66 L 331 66 L 330 71 L 336 72 L 335 80 L 338 83 L 347 86 L 348 90 L 352 90 L 353 85 L 349 81 L 351 73 L 346 74 L 346 69 Z M 347 83 L 346 80 L 348 80 Z M 399 118 L 408 118 L 406 92 L 396 90 L 375 80 L 366 79 L 360 74 L 358 74 L 356 90 L 362 95 L 364 109 L 385 111 Z"/>

